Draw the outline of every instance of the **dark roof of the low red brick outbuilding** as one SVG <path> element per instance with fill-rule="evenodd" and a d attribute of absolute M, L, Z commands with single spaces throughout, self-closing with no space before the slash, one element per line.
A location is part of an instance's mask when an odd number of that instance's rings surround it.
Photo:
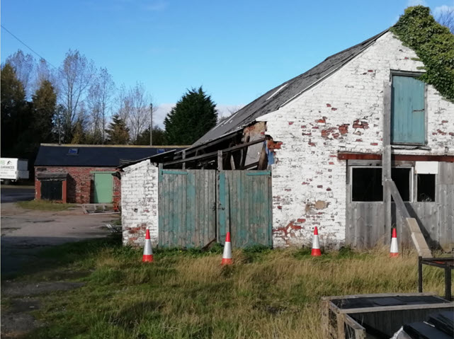
<path fill-rule="evenodd" d="M 118 146 L 41 144 L 35 166 L 117 167 L 122 161 L 135 161 L 172 149 L 188 146 Z"/>

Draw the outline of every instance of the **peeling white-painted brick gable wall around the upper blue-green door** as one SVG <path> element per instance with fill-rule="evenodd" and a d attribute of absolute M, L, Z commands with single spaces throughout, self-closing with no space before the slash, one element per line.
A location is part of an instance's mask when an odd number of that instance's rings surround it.
<path fill-rule="evenodd" d="M 383 83 L 390 70 L 421 71 L 423 64 L 412 58 L 412 50 L 386 33 L 335 74 L 261 117 L 266 134 L 282 142 L 273 165 L 273 246 L 310 245 L 314 226 L 322 246 L 344 243 L 346 161 L 336 154 L 382 153 Z M 431 150 L 395 153 L 454 154 L 454 105 L 433 86 L 426 86 L 426 103 Z"/>

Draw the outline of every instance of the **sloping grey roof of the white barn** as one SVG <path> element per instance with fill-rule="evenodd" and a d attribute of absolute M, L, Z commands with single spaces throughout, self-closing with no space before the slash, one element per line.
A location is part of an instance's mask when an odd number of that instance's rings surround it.
<path fill-rule="evenodd" d="M 317 66 L 309 71 L 276 86 L 263 94 L 263 96 L 249 103 L 249 105 L 244 106 L 244 108 L 237 113 L 234 113 L 231 117 L 217 124 L 203 137 L 198 139 L 193 146 L 198 146 L 199 144 L 217 139 L 228 132 L 238 130 L 243 126 L 248 125 L 256 120 L 256 118 L 261 117 L 266 113 L 278 110 L 282 105 L 288 103 L 288 101 L 299 96 L 308 88 L 314 86 L 326 76 L 329 76 L 329 74 L 344 66 L 344 64 L 363 52 L 363 50 L 372 45 L 375 40 L 387 33 L 387 31 L 388 30 L 384 30 L 382 33 L 379 33 L 358 45 L 331 55 L 331 57 L 327 57 L 324 62 L 317 64 Z"/>

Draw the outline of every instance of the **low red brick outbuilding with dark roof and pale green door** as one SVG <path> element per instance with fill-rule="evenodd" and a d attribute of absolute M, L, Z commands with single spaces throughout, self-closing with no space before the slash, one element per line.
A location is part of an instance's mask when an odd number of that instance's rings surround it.
<path fill-rule="evenodd" d="M 186 146 L 41 144 L 35 160 L 35 199 L 120 203 L 120 163 Z"/>

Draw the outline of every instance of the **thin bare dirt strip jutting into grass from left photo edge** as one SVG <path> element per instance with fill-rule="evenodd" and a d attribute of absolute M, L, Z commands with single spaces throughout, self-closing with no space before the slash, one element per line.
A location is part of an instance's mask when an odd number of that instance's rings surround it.
<path fill-rule="evenodd" d="M 2 294 L 6 297 L 25 297 L 47 294 L 57 291 L 68 291 L 84 286 L 84 282 L 6 282 L 2 287 Z"/>

